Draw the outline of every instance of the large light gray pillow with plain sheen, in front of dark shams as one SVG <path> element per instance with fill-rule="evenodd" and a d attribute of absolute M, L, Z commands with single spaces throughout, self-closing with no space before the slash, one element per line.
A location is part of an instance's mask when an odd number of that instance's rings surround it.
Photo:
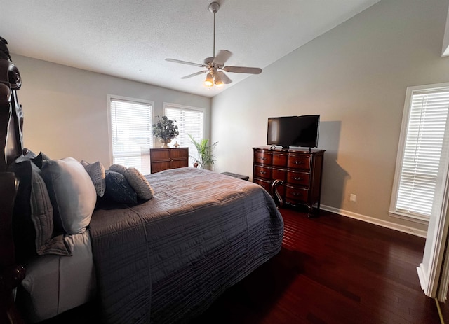
<path fill-rule="evenodd" d="M 54 209 L 55 232 L 84 232 L 91 223 L 97 201 L 97 192 L 86 169 L 73 157 L 44 160 L 42 178 Z"/>

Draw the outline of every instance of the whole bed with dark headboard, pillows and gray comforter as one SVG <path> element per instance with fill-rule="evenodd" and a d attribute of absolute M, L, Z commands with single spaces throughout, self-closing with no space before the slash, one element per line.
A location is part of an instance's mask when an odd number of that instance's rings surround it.
<path fill-rule="evenodd" d="M 25 149 L 20 74 L 6 44 L 0 40 L 0 319 L 37 323 L 95 300 L 104 323 L 187 323 L 279 253 L 283 219 L 259 185 L 180 168 L 137 174 L 142 193 L 127 178 L 131 168 L 109 166 L 99 185 L 89 172 L 99 162 Z M 61 165 L 77 172 L 83 195 L 48 182 Z M 118 176 L 128 189 L 111 182 Z M 123 200 L 127 190 L 138 199 Z M 88 198 L 74 199 L 81 196 Z M 74 221 L 72 209 L 83 216 Z"/>

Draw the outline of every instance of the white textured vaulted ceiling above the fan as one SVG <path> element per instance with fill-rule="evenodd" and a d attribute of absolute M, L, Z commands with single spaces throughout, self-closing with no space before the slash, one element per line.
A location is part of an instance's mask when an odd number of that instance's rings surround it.
<path fill-rule="evenodd" d="M 215 54 L 262 70 L 380 0 L 216 0 Z M 245 78 L 207 88 L 197 66 L 213 56 L 207 0 L 4 0 L 0 36 L 13 54 L 213 97 Z M 20 66 L 18 66 L 20 68 Z M 263 73 L 263 71 L 262 71 Z"/>

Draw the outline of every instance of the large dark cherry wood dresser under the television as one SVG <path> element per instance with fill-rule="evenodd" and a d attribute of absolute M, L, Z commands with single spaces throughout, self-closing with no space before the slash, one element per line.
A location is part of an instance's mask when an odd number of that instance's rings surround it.
<path fill-rule="evenodd" d="M 324 150 L 260 147 L 253 151 L 254 183 L 271 192 L 273 181 L 282 181 L 277 191 L 283 202 L 293 206 L 307 205 L 309 217 L 319 213 Z M 317 205 L 315 210 L 314 204 Z"/>

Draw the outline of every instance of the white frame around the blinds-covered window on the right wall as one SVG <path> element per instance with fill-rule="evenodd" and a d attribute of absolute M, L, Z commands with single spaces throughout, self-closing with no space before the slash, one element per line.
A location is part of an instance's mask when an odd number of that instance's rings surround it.
<path fill-rule="evenodd" d="M 449 158 L 448 158 L 448 146 L 449 146 L 449 114 L 446 118 L 446 125 L 445 125 L 445 132 L 444 132 L 444 139 L 443 144 L 441 148 L 441 155 L 445 162 L 443 166 L 438 167 L 438 175 L 436 178 L 436 184 L 435 184 L 435 192 L 434 192 L 434 201 L 432 204 L 431 209 L 431 215 L 426 216 L 420 216 L 413 213 L 406 213 L 396 210 L 396 203 L 398 199 L 398 191 L 399 191 L 399 184 L 401 181 L 401 169 L 403 165 L 403 159 L 405 155 L 405 146 L 406 146 L 406 137 L 408 134 L 408 124 L 410 119 L 410 113 L 411 113 L 411 106 L 412 106 L 412 100 L 413 95 L 417 92 L 431 92 L 431 91 L 441 91 L 441 92 L 447 92 L 449 91 L 449 83 L 438 83 L 438 84 L 431 84 L 431 85 L 418 85 L 413 87 L 407 87 L 406 90 L 406 99 L 404 103 L 403 108 L 403 117 L 402 117 L 402 123 L 401 123 L 401 135 L 399 137 L 398 142 L 398 151 L 396 155 L 396 169 L 394 171 L 394 182 L 393 182 L 393 188 L 391 190 L 391 202 L 389 206 L 389 216 L 401 218 L 405 220 L 411 220 L 415 223 L 421 223 L 427 225 L 429 223 L 430 218 L 436 214 L 440 213 L 441 209 L 443 208 L 443 196 L 445 195 L 446 190 L 446 179 L 448 178 L 448 172 L 449 172 Z"/>

